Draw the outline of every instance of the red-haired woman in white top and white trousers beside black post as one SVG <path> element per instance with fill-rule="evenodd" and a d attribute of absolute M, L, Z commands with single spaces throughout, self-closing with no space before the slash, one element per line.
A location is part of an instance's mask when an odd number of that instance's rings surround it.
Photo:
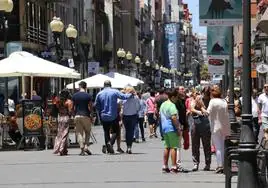
<path fill-rule="evenodd" d="M 230 135 L 228 104 L 225 99 L 221 98 L 219 88 L 212 88 L 211 97 L 207 112 L 209 114 L 212 140 L 216 147 L 218 165 L 216 173 L 223 173 L 224 140 L 226 136 Z"/>

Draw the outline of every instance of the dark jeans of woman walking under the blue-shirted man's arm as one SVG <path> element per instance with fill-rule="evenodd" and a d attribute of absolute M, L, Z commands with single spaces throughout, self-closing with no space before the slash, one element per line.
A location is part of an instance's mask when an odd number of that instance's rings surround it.
<path fill-rule="evenodd" d="M 133 138 L 134 138 L 134 130 L 135 130 L 135 126 L 138 123 L 138 116 L 135 115 L 131 115 L 131 116 L 123 116 L 123 123 L 125 126 L 125 130 L 126 130 L 126 144 L 127 147 L 132 147 L 132 142 L 133 142 Z"/>

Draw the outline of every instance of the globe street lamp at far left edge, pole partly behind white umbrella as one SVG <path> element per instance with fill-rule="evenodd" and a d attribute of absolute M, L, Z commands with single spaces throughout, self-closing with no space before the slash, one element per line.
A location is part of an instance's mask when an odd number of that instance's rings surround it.
<path fill-rule="evenodd" d="M 8 19 L 5 17 L 5 13 L 11 13 L 13 10 L 12 0 L 0 1 L 0 30 L 4 33 L 4 56 L 7 57 L 6 44 L 8 35 Z M 4 115 L 8 115 L 8 77 L 5 77 L 5 104 Z"/>

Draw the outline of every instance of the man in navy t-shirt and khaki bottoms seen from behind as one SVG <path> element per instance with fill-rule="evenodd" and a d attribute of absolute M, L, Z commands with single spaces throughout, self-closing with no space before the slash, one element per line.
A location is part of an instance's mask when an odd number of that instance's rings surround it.
<path fill-rule="evenodd" d="M 86 82 L 80 82 L 79 87 L 80 91 L 73 95 L 73 105 L 75 112 L 74 123 L 76 126 L 76 133 L 81 149 L 80 155 L 91 155 L 91 152 L 89 151 L 88 147 L 92 126 L 92 122 L 90 119 L 92 97 L 86 92 Z"/>

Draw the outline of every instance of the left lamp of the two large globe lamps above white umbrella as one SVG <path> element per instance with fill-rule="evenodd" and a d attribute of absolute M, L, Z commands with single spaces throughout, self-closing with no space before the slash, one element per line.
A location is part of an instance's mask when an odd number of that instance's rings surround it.
<path fill-rule="evenodd" d="M 64 24 L 60 18 L 53 17 L 53 20 L 50 22 L 50 29 L 53 33 L 53 39 L 55 42 L 57 63 L 60 63 L 60 60 L 63 58 L 63 49 L 61 48 L 60 36 L 64 29 Z M 61 79 L 58 79 L 58 91 L 61 90 Z"/>

